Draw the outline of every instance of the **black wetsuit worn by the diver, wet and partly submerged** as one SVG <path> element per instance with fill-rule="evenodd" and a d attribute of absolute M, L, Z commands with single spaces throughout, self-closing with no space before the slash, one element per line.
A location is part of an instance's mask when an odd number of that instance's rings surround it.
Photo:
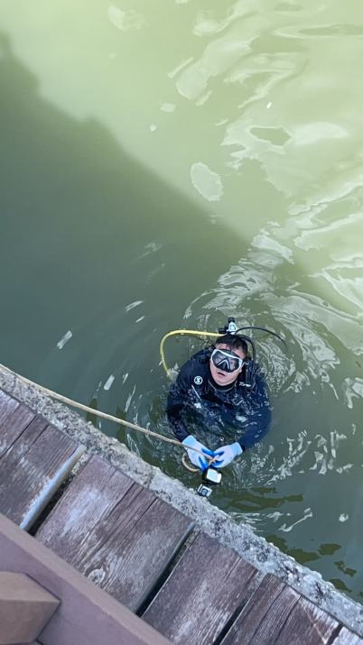
<path fill-rule="evenodd" d="M 211 449 L 238 441 L 246 450 L 264 437 L 271 421 L 265 382 L 248 362 L 237 380 L 219 386 L 209 369 L 211 348 L 191 356 L 169 392 L 166 414 L 176 438 L 188 435 Z"/>

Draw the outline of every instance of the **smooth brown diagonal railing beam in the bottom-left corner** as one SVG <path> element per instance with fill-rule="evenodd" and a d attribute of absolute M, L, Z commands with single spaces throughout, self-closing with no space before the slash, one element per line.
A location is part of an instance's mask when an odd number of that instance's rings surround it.
<path fill-rule="evenodd" d="M 26 571 L 61 601 L 38 637 L 42 645 L 171 645 L 135 613 L 0 514 L 0 571 L 5 568 Z"/>

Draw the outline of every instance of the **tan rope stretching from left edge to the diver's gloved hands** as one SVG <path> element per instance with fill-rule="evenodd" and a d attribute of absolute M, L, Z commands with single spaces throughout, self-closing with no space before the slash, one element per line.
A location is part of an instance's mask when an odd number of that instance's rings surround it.
<path fill-rule="evenodd" d="M 72 401 L 72 399 L 69 399 L 68 397 L 63 396 L 62 394 L 58 394 L 58 392 L 53 392 L 52 390 L 49 390 L 48 388 L 45 388 L 42 385 L 39 385 L 39 383 L 30 381 L 29 379 L 25 378 L 25 376 L 22 376 L 21 374 L 17 374 L 16 372 L 13 372 L 13 370 L 10 370 L 8 367 L 5 367 L 5 365 L 0 364 L 0 369 L 4 370 L 4 372 L 15 375 L 21 382 L 25 383 L 26 385 L 32 385 L 33 387 L 36 387 L 44 394 L 48 394 L 48 396 L 50 396 L 52 399 L 55 399 L 56 401 L 61 401 L 61 403 L 66 403 L 67 405 L 70 405 L 72 408 L 83 410 L 84 412 L 89 412 L 90 414 L 93 414 L 96 417 L 100 417 L 101 419 L 114 421 L 115 423 L 119 423 L 122 426 L 126 426 L 126 428 L 136 430 L 137 432 L 142 432 L 144 435 L 149 435 L 150 437 L 160 439 L 161 441 L 165 441 L 166 443 L 172 444 L 173 446 L 181 447 L 183 450 L 187 449 L 187 447 L 183 446 L 181 442 L 177 441 L 176 439 L 163 437 L 163 435 L 160 435 L 157 432 L 153 432 L 153 430 L 142 428 L 141 426 L 138 426 L 136 423 L 131 423 L 131 421 L 126 421 L 125 419 L 119 419 L 118 417 L 114 417 L 112 414 L 107 414 L 107 412 L 102 412 L 101 410 L 95 410 L 94 408 L 89 408 L 88 405 L 84 405 L 83 403 L 79 403 L 78 401 Z M 202 455 L 204 458 L 208 459 L 210 462 L 213 461 L 213 457 L 209 457 L 205 455 L 203 452 L 201 452 L 201 450 L 198 450 L 197 448 L 193 448 L 193 450 L 199 453 L 200 455 Z"/>

